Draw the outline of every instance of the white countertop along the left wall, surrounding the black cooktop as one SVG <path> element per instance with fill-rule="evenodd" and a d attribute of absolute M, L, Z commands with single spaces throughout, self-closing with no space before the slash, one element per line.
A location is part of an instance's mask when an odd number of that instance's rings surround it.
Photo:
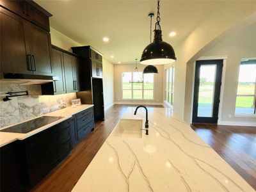
<path fill-rule="evenodd" d="M 47 124 L 43 127 L 35 129 L 34 131 L 28 132 L 26 134 L 14 133 L 14 132 L 0 132 L 0 147 L 3 147 L 4 145 L 7 145 L 8 143 L 12 143 L 13 141 L 16 141 L 16 140 L 24 140 L 24 139 L 28 138 L 29 136 L 32 136 L 38 132 L 48 129 L 49 127 L 52 127 L 53 125 L 59 124 L 60 122 L 63 122 L 64 120 L 67 120 L 68 118 L 71 118 L 72 115 L 75 115 L 76 113 L 79 113 L 80 111 L 83 111 L 84 109 L 91 108 L 92 106 L 93 105 L 87 105 L 87 104 L 83 104 L 81 106 L 76 106 L 76 107 L 70 106 L 67 108 L 63 108 L 63 109 L 42 115 L 42 116 L 62 116 L 63 118 L 61 118 L 60 120 L 56 120 L 55 122 L 52 122 L 51 124 Z M 40 117 L 40 116 L 38 116 L 38 117 Z M 36 118 L 38 118 L 38 117 L 36 117 Z M 32 119 L 30 119 L 30 120 L 32 120 Z M 20 123 L 22 123 L 22 122 L 19 122 L 17 124 L 20 124 Z M 17 124 L 13 124 L 13 125 L 17 125 Z M 7 127 L 11 127 L 13 125 L 9 125 Z M 6 129 L 7 127 L 1 127 L 1 129 Z"/>

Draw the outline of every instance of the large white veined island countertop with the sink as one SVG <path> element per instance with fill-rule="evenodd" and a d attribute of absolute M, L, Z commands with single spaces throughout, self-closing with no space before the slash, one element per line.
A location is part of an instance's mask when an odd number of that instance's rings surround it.
<path fill-rule="evenodd" d="M 122 118 L 144 119 L 143 110 L 134 116 L 134 108 L 129 108 Z M 149 135 L 110 135 L 73 192 L 254 191 L 170 109 L 148 112 Z"/>

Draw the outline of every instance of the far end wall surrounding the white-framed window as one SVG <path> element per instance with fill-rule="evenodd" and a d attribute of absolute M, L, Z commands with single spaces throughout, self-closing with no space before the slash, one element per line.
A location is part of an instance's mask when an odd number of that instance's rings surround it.
<path fill-rule="evenodd" d="M 138 71 L 143 72 L 146 65 L 138 65 Z M 122 99 L 122 72 L 133 72 L 135 64 L 115 65 L 115 102 L 120 104 L 163 104 L 163 65 L 157 65 L 159 74 L 154 76 L 154 100 Z"/>

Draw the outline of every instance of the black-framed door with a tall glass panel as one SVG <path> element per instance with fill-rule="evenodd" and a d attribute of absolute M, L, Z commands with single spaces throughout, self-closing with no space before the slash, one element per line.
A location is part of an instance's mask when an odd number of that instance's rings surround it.
<path fill-rule="evenodd" d="M 223 60 L 196 61 L 192 122 L 218 122 L 222 67 Z"/>

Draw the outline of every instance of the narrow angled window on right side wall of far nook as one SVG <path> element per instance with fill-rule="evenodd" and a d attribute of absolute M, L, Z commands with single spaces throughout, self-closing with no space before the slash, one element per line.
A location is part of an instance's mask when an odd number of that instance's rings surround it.
<path fill-rule="evenodd" d="M 165 70 L 165 100 L 173 105 L 174 92 L 174 65 Z"/>

